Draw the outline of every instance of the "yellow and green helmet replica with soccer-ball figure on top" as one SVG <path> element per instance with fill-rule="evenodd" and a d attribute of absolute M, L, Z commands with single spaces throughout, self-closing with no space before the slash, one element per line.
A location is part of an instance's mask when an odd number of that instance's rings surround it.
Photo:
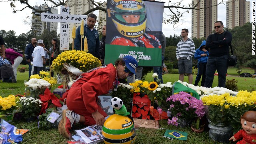
<path fill-rule="evenodd" d="M 111 105 L 115 108 L 116 114 L 113 114 L 104 122 L 102 127 L 104 143 L 134 144 L 136 132 L 130 112 L 127 112 L 120 98 L 112 98 Z"/>

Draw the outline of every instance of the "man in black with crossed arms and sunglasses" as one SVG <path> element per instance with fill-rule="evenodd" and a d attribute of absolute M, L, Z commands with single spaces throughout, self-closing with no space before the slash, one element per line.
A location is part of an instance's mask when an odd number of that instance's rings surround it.
<path fill-rule="evenodd" d="M 206 39 L 206 47 L 209 48 L 209 58 L 206 65 L 204 87 L 212 87 L 214 73 L 217 70 L 219 78 L 218 87 L 225 88 L 232 34 L 223 30 L 222 21 L 216 21 L 213 28 L 215 33 L 210 34 Z"/>

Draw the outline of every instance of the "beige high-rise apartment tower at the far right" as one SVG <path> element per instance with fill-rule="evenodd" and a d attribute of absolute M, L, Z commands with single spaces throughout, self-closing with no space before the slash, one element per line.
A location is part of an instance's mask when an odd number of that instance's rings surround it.
<path fill-rule="evenodd" d="M 250 22 L 250 1 L 227 0 L 226 5 L 227 28 L 242 26 Z"/>

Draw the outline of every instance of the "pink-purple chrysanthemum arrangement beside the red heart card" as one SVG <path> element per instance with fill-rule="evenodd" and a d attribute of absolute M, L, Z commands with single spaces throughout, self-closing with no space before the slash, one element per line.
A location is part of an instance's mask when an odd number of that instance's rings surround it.
<path fill-rule="evenodd" d="M 178 126 L 178 118 L 191 120 L 202 118 L 205 114 L 202 100 L 198 100 L 186 92 L 180 92 L 167 98 L 166 102 L 170 103 L 170 112 L 172 120 L 168 119 L 168 124 Z"/>

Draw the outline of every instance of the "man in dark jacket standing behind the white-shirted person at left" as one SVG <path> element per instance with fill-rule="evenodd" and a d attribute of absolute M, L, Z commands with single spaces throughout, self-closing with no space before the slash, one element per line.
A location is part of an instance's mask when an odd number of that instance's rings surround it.
<path fill-rule="evenodd" d="M 31 76 L 31 70 L 32 70 L 32 65 L 31 62 L 33 62 L 33 58 L 32 58 L 32 53 L 34 51 L 34 48 L 36 47 L 37 41 L 36 38 L 32 38 L 31 39 L 31 43 L 28 44 L 25 48 L 25 58 L 27 59 L 28 62 L 28 79 Z"/>

